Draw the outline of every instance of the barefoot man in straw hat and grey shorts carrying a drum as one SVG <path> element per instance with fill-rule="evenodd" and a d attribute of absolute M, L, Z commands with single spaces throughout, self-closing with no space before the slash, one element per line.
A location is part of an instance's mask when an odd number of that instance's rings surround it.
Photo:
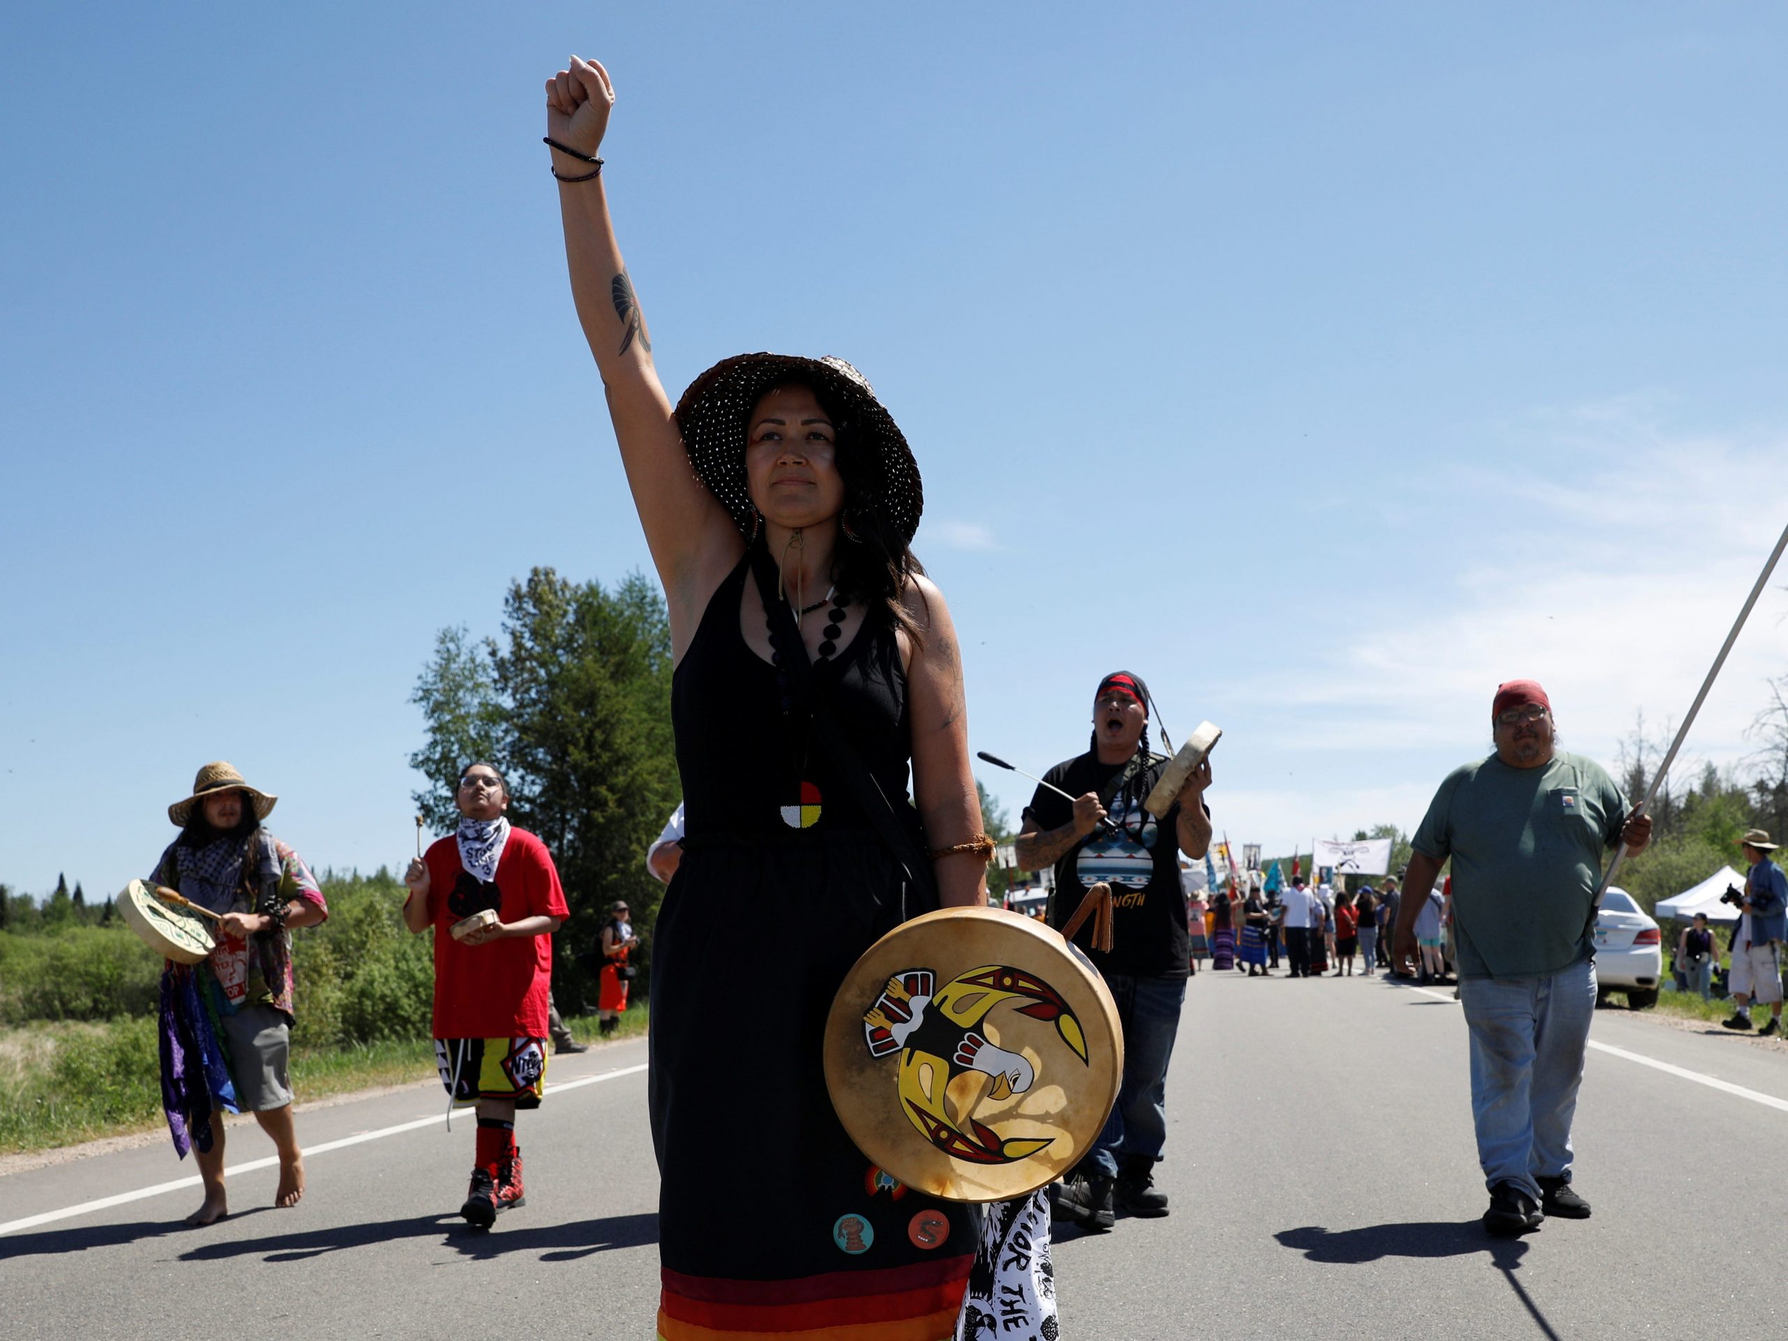
<path fill-rule="evenodd" d="M 163 1105 L 173 1148 L 184 1159 L 191 1146 L 206 1191 L 188 1225 L 229 1214 L 224 1123 L 213 1119 L 220 1109 L 252 1112 L 274 1139 L 274 1205 L 304 1196 L 291 1123 L 291 928 L 315 926 L 329 908 L 304 860 L 261 828 L 277 801 L 229 763 L 206 763 L 193 794 L 168 806 L 181 837 L 150 874 L 150 883 L 220 914 L 211 955 L 197 969 L 170 962 L 161 978 Z"/>

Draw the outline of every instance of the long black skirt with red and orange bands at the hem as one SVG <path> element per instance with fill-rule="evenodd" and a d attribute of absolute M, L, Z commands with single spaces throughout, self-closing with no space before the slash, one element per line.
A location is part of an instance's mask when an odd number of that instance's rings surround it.
<path fill-rule="evenodd" d="M 653 946 L 662 1341 L 955 1336 L 980 1209 L 864 1159 L 821 1066 L 831 998 L 899 924 L 901 887 L 867 833 L 685 840 Z"/>

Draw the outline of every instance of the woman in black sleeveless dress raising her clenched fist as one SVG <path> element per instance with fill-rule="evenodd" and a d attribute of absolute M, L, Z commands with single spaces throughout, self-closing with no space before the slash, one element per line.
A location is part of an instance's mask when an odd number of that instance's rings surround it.
<path fill-rule="evenodd" d="M 957 633 L 908 547 L 917 463 L 842 359 L 730 358 L 672 411 L 601 179 L 613 100 L 578 57 L 547 80 L 572 295 L 676 660 L 687 833 L 656 926 L 649 1078 L 658 1334 L 940 1341 L 973 1268 L 976 1295 L 1026 1298 L 1053 1336 L 1042 1194 L 985 1216 L 1026 1236 L 1019 1271 L 978 1244 L 974 1207 L 856 1151 L 821 1067 L 858 955 L 932 899 L 985 903 Z M 930 853 L 935 894 L 881 837 L 894 824 Z"/>

